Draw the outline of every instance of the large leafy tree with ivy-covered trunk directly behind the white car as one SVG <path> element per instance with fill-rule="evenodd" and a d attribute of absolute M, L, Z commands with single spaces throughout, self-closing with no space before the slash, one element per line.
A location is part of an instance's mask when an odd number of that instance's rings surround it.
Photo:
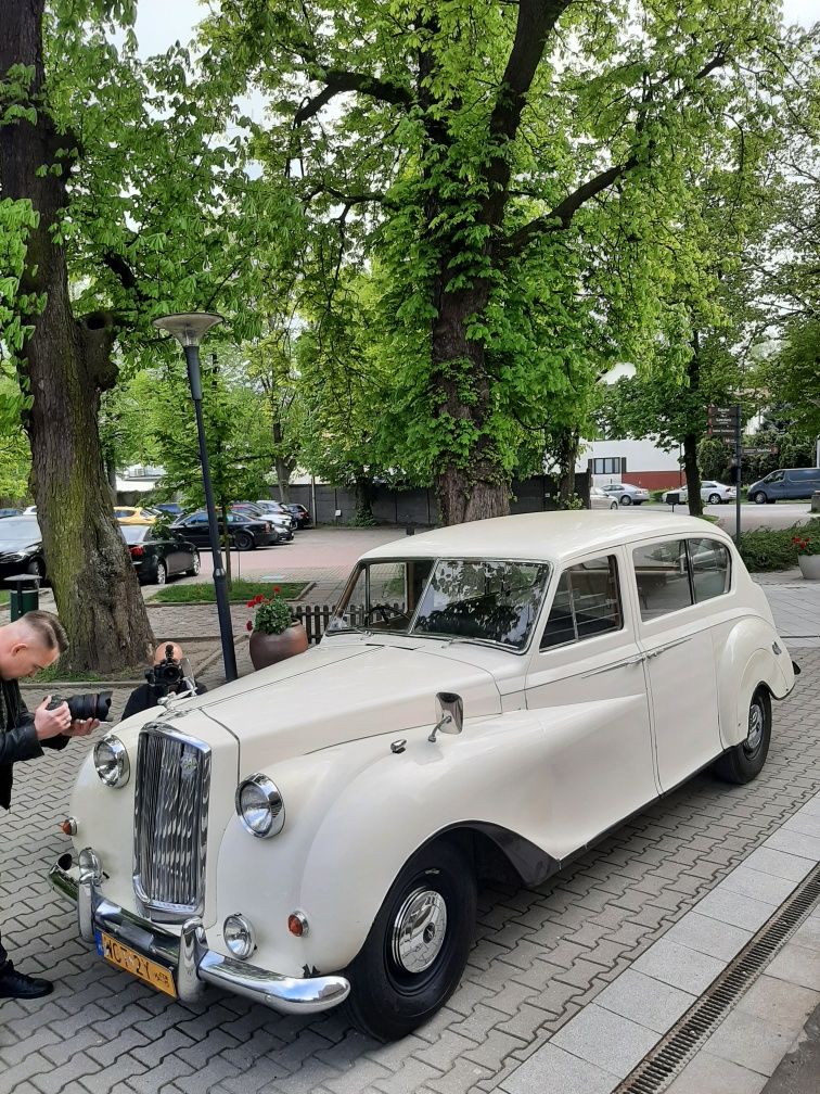
<path fill-rule="evenodd" d="M 338 256 L 328 306 L 345 259 L 389 280 L 383 423 L 445 522 L 507 511 L 517 418 L 543 420 L 594 324 L 612 359 L 652 344 L 656 224 L 794 38 L 774 0 L 221 4 L 207 40 L 271 95 L 257 154 Z"/>

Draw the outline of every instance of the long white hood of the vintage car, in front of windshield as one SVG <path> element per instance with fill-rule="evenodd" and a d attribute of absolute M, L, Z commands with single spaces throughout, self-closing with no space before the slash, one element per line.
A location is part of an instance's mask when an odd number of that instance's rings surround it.
<path fill-rule="evenodd" d="M 185 707 L 199 708 L 238 741 L 239 769 L 248 773 L 347 741 L 432 728 L 437 691 L 457 691 L 465 718 L 501 711 L 487 668 L 456 661 L 440 647 L 386 642 L 314 648 Z"/>

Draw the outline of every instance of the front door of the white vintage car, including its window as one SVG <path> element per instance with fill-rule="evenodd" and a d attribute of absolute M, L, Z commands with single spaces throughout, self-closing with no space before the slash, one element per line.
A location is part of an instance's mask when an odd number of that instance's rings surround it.
<path fill-rule="evenodd" d="M 527 707 L 546 712 L 543 847 L 558 859 L 657 794 L 643 653 L 623 593 L 624 562 L 617 549 L 553 577 L 528 666 Z"/>

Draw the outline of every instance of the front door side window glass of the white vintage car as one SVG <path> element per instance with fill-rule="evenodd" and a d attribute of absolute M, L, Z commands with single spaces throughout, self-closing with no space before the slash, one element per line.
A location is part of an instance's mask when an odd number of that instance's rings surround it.
<path fill-rule="evenodd" d="M 541 636 L 541 649 L 620 630 L 623 626 L 618 562 L 595 558 L 564 570 Z"/>

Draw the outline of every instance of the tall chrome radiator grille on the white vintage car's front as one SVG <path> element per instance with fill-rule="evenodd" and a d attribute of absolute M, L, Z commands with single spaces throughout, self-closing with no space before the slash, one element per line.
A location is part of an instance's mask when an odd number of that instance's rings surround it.
<path fill-rule="evenodd" d="M 140 733 L 133 887 L 152 919 L 185 920 L 204 904 L 211 749 L 167 725 Z"/>

